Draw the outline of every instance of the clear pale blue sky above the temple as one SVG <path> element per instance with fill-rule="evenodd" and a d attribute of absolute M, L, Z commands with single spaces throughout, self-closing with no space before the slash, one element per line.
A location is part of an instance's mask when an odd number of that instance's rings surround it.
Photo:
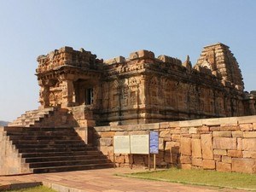
<path fill-rule="evenodd" d="M 63 46 L 99 58 L 138 49 L 193 64 L 207 44 L 230 46 L 256 90 L 254 0 L 0 0 L 0 120 L 38 108 L 38 55 Z"/>

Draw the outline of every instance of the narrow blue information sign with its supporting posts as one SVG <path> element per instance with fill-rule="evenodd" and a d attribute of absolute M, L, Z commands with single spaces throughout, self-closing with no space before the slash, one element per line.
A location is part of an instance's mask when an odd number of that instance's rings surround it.
<path fill-rule="evenodd" d="M 150 131 L 149 132 L 149 154 L 148 154 L 148 165 L 149 165 L 149 159 L 150 154 L 154 154 L 154 170 L 156 169 L 155 166 L 155 154 L 159 153 L 159 133 L 158 131 Z M 150 166 L 149 170 L 150 170 Z"/>

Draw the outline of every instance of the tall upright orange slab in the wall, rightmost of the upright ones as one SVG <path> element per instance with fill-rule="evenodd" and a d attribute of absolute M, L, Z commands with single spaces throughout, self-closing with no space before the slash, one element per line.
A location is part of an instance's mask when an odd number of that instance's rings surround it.
<path fill-rule="evenodd" d="M 201 135 L 201 150 L 202 150 L 202 158 L 207 160 L 213 159 L 213 151 L 212 151 L 212 135 L 210 134 L 202 134 Z"/>

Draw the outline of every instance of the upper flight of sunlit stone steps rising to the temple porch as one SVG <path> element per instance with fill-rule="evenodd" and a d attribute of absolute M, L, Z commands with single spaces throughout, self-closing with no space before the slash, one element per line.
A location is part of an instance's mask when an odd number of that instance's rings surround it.
<path fill-rule="evenodd" d="M 72 126 L 73 122 L 67 109 L 43 108 L 26 111 L 26 113 L 9 123 L 9 126 Z"/>

